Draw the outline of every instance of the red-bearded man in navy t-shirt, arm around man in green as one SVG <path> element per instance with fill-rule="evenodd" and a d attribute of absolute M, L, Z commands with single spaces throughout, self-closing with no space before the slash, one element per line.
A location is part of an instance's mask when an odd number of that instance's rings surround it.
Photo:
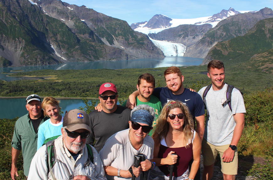
<path fill-rule="evenodd" d="M 201 141 L 205 131 L 205 109 L 202 97 L 191 90 L 184 88 L 184 76 L 180 69 L 175 66 L 167 68 L 164 72 L 167 87 L 155 88 L 153 95 L 156 96 L 162 106 L 169 101 L 182 101 L 188 106 L 190 113 L 194 120 L 196 120 L 196 132 L 198 133 Z M 136 106 L 136 96 L 139 95 L 138 91 L 133 92 L 127 100 L 126 106 L 132 109 Z M 195 180 L 200 179 L 200 169 L 198 170 Z"/>

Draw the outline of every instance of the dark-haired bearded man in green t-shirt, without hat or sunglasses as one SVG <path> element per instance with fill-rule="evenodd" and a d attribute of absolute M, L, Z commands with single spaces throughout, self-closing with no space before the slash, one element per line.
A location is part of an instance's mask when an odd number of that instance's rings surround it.
<path fill-rule="evenodd" d="M 141 74 L 138 77 L 136 88 L 139 91 L 139 95 L 136 97 L 136 106 L 140 104 L 147 104 L 153 107 L 155 112 L 155 119 L 153 121 L 152 127 L 154 127 L 157 124 L 157 117 L 160 115 L 162 106 L 159 99 L 152 95 L 155 88 L 155 79 L 153 75 L 149 73 Z M 126 102 L 127 100 L 122 104 L 122 106 L 125 107 Z M 153 131 L 154 129 L 149 132 L 149 136 L 152 136 Z"/>

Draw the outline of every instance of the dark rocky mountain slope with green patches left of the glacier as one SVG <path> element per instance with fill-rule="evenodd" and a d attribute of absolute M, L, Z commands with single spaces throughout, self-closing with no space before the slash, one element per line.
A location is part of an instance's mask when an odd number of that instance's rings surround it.
<path fill-rule="evenodd" d="M 27 66 L 164 55 L 126 21 L 85 6 L 0 0 L 0 57 L 0 66 Z"/>

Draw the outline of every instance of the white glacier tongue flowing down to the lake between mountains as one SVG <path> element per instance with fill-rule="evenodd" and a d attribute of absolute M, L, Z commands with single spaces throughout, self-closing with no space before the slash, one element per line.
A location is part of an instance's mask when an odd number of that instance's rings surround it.
<path fill-rule="evenodd" d="M 157 46 L 164 53 L 165 56 L 184 56 L 186 46 L 181 43 L 174 43 L 168 41 L 158 41 L 150 38 L 155 46 Z"/>

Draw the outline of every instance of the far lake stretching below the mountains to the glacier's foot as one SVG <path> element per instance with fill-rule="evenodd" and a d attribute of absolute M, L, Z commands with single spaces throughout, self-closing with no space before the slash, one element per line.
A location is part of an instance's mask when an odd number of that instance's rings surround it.
<path fill-rule="evenodd" d="M 21 77 L 8 77 L 8 74 L 3 72 L 16 73 L 10 71 L 24 70 L 35 71 L 43 69 L 66 70 L 66 69 L 129 69 L 129 68 L 161 68 L 170 66 L 197 66 L 203 62 L 201 58 L 192 57 L 165 57 L 163 60 L 156 59 L 136 59 L 128 61 L 95 61 L 95 62 L 81 62 L 81 63 L 62 63 L 58 65 L 47 66 L 24 66 L 12 68 L 0 68 L 0 79 L 5 81 L 21 80 Z M 1 101 L 0 101 L 1 102 Z M 0 117 L 1 118 L 1 117 Z"/>

